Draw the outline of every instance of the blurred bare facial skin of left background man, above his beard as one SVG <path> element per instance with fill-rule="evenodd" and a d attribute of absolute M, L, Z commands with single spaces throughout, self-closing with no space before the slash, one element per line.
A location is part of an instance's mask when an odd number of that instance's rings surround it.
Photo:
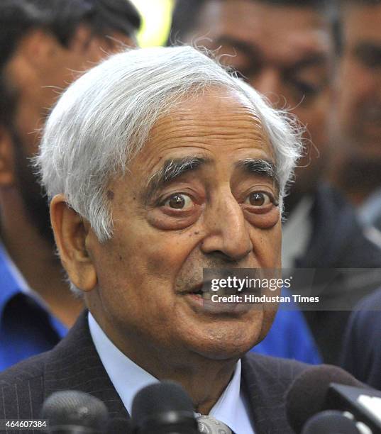
<path fill-rule="evenodd" d="M 68 47 L 40 30 L 20 44 L 7 65 L 6 75 L 16 88 L 18 104 L 14 124 L 28 155 L 35 154 L 39 141 L 35 132 L 43 126 L 60 92 L 102 58 L 120 51 L 123 44 L 134 45 L 131 38 L 121 33 L 94 36 L 85 26 L 79 26 Z"/>

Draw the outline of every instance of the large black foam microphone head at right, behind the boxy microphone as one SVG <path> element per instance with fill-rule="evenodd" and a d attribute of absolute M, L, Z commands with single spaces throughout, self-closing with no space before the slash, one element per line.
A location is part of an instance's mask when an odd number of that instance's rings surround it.
<path fill-rule="evenodd" d="M 363 387 L 355 377 L 336 366 L 319 365 L 310 367 L 300 374 L 289 387 L 286 396 L 286 412 L 289 425 L 300 433 L 304 423 L 322 410 L 329 384 Z"/>

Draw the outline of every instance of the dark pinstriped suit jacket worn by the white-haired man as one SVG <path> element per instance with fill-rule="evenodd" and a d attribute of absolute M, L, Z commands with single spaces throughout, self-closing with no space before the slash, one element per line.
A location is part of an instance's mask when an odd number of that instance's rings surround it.
<path fill-rule="evenodd" d="M 285 392 L 306 367 L 253 353 L 243 357 L 242 385 L 256 434 L 293 433 L 285 415 Z M 67 389 L 101 399 L 111 417 L 129 417 L 92 343 L 86 312 L 53 350 L 0 374 L 0 419 L 39 418 L 43 401 L 53 392 Z"/>

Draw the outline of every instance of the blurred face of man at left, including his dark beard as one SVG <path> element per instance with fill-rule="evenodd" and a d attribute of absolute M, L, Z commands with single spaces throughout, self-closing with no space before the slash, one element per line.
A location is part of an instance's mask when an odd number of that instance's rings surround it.
<path fill-rule="evenodd" d="M 32 31 L 21 41 L 6 65 L 5 77 L 16 97 L 16 109 L 9 126 L 13 143 L 13 179 L 28 217 L 41 235 L 53 242 L 48 204 L 30 167 L 29 158 L 38 150 L 40 129 L 50 108 L 79 74 L 102 58 L 118 52 L 133 40 L 121 33 L 111 38 L 94 36 L 79 26 L 68 47 L 42 30 Z"/>

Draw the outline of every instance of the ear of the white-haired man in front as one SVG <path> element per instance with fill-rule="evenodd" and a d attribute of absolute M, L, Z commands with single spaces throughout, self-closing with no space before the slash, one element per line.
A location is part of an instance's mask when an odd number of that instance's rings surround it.
<path fill-rule="evenodd" d="M 57 194 L 50 203 L 50 219 L 62 265 L 72 283 L 82 291 L 96 286 L 96 269 L 88 251 L 89 239 L 95 237 L 89 223 Z"/>

